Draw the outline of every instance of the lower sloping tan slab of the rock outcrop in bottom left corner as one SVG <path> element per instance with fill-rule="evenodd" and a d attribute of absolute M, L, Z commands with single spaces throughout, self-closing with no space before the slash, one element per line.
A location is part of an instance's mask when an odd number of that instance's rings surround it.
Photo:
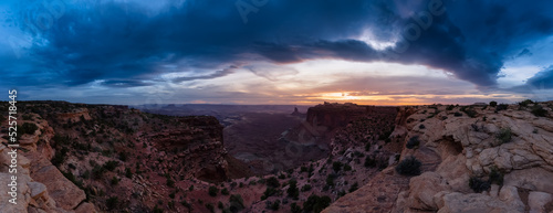
<path fill-rule="evenodd" d="M 12 173 L 8 171 L 11 160 L 10 148 L 0 145 L 0 184 L 12 184 Z M 96 212 L 94 205 L 82 203 L 85 195 L 82 190 L 65 179 L 50 161 L 43 159 L 41 162 L 28 158 L 40 155 L 36 151 L 23 153 L 19 150 L 17 156 L 17 204 L 9 203 L 12 196 L 8 193 L 0 194 L 0 210 L 2 212 L 74 212 L 83 204 L 80 212 Z M 36 166 L 42 164 L 39 171 Z M 40 166 L 39 166 L 40 167 Z"/>

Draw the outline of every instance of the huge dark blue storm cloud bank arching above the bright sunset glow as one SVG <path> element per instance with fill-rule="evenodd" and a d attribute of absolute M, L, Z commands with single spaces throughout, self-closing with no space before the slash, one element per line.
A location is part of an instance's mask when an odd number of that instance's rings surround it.
<path fill-rule="evenodd" d="M 67 4 L 52 28 L 36 35 L 42 42 L 1 71 L 36 76 L 25 83 L 54 79 L 74 86 L 103 79 L 133 87 L 176 72 L 163 68 L 167 64 L 198 71 L 178 83 L 229 75 L 234 68 L 223 67 L 254 61 L 342 58 L 428 65 L 489 88 L 505 58 L 553 33 L 551 1 L 445 1 L 446 11 L 421 28 L 416 18 L 437 2 L 269 0 L 248 14 L 246 24 L 231 0 L 188 0 L 159 13 L 133 3 L 83 1 Z M 401 39 L 413 24 L 420 35 Z M 378 41 L 399 39 L 405 50 L 375 50 L 357 39 L 365 30 Z"/>

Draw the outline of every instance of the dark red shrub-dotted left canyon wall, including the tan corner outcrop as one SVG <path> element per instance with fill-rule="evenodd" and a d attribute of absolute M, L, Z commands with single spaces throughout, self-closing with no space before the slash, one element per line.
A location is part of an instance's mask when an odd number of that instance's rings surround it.
<path fill-rule="evenodd" d="M 191 211 L 198 204 L 180 203 L 182 189 L 207 194 L 205 181 L 240 173 L 234 170 L 241 162 L 227 155 L 213 117 L 63 102 L 23 102 L 18 110 L 18 125 L 36 130 L 19 140 L 18 205 L 2 193 L 0 212 Z M 11 149 L 1 126 L 0 181 L 7 185 Z"/>

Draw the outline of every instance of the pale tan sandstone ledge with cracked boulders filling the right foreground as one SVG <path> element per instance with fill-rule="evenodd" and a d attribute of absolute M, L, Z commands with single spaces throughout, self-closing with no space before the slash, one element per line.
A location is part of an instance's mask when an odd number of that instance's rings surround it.
<path fill-rule="evenodd" d="M 553 212 L 552 105 L 538 105 L 545 117 L 531 113 L 535 106 L 403 107 L 390 137 L 419 138 L 400 160 L 419 159 L 421 174 L 400 175 L 392 164 L 325 212 Z M 476 193 L 471 178 L 491 185 Z"/>

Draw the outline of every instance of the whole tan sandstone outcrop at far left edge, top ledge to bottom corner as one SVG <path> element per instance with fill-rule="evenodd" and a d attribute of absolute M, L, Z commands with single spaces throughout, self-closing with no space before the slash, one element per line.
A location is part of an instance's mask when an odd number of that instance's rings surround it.
<path fill-rule="evenodd" d="M 49 141 L 53 130 L 48 121 L 39 119 L 38 115 L 29 114 L 33 120 L 24 123 L 35 124 L 34 132 L 23 135 L 20 139 L 21 148 L 17 150 L 17 204 L 9 203 L 12 199 L 1 193 L 0 210 L 2 212 L 96 212 L 94 205 L 83 202 L 86 196 L 67 180 L 51 162 L 53 150 Z M 20 120 L 24 120 L 21 119 Z M 8 188 L 12 173 L 9 173 L 13 151 L 8 148 L 6 138 L 0 139 L 0 182 Z M 2 190 L 4 192 L 4 190 Z"/>

